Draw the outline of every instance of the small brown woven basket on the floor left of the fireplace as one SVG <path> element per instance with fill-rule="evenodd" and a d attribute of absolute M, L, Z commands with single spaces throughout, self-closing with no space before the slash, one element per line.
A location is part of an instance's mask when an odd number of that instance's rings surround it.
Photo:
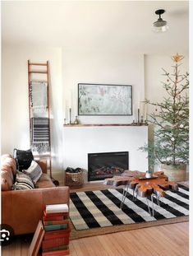
<path fill-rule="evenodd" d="M 83 170 L 78 173 L 66 172 L 65 185 L 70 188 L 80 188 L 84 184 Z"/>

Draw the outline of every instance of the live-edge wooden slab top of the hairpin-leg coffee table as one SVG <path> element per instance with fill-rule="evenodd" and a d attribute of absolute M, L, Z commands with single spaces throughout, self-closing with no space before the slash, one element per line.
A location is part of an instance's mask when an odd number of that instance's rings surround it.
<path fill-rule="evenodd" d="M 114 176 L 110 179 L 105 179 L 104 184 L 128 186 L 130 189 L 135 189 L 136 193 L 145 198 L 154 193 L 158 197 L 164 197 L 165 190 L 178 190 L 176 183 L 168 181 L 168 177 L 163 172 L 154 172 L 152 178 L 145 178 L 145 173 L 139 171 L 125 171 L 122 176 Z"/>

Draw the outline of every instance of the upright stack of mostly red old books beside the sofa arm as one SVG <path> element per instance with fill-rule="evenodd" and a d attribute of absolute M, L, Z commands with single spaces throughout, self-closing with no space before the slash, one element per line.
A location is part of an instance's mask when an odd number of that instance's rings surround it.
<path fill-rule="evenodd" d="M 69 254 L 69 211 L 67 204 L 47 205 L 43 216 L 44 238 L 43 256 Z"/>

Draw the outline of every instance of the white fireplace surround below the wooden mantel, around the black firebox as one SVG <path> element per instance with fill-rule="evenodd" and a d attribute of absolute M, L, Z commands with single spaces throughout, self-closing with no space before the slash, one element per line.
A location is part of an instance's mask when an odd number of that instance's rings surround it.
<path fill-rule="evenodd" d="M 64 170 L 85 169 L 85 182 L 88 181 L 88 153 L 129 151 L 129 169 L 148 170 L 147 153 L 139 151 L 148 142 L 147 126 L 65 126 L 63 142 Z"/>

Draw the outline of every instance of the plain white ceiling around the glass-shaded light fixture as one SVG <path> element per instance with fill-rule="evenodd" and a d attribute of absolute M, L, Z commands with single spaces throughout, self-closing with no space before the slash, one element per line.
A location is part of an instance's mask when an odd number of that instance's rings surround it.
<path fill-rule="evenodd" d="M 152 31 L 159 8 L 162 34 Z M 2 1 L 2 44 L 187 54 L 188 12 L 187 1 Z"/>

